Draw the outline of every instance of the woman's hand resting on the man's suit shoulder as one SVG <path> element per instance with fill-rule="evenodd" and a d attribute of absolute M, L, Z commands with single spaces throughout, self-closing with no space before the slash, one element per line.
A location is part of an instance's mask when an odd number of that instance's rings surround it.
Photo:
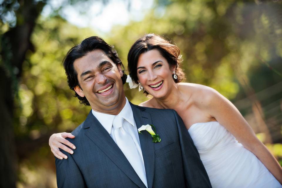
<path fill-rule="evenodd" d="M 68 140 L 66 140 L 66 138 L 74 138 L 74 137 L 75 136 L 73 136 L 69 132 L 60 132 L 51 135 L 51 137 L 49 138 L 49 146 L 51 148 L 51 152 L 55 155 L 55 157 L 57 157 L 58 159 L 68 158 L 65 154 L 60 152 L 59 148 L 70 154 L 73 154 L 73 150 L 71 150 L 70 148 L 75 149 L 75 145 L 73 145 Z M 63 144 L 69 146 L 70 148 L 68 148 Z"/>

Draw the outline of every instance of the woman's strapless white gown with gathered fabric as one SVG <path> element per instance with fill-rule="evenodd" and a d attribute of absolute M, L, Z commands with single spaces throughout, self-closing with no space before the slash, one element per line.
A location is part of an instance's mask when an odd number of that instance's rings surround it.
<path fill-rule="evenodd" d="M 282 187 L 261 161 L 219 122 L 195 123 L 188 132 L 212 187 Z"/>

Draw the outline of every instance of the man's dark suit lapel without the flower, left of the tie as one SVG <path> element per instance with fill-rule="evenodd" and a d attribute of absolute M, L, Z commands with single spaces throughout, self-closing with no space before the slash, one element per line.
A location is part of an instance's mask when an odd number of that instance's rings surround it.
<path fill-rule="evenodd" d="M 83 129 L 85 129 L 85 135 L 90 138 L 127 177 L 137 186 L 146 188 L 125 155 L 91 111 L 84 122 Z"/>

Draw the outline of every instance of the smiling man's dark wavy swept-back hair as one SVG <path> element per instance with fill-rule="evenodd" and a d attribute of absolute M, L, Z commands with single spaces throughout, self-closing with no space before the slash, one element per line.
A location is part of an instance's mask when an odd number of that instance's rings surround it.
<path fill-rule="evenodd" d="M 91 36 L 89 38 L 85 38 L 80 44 L 70 48 L 66 57 L 63 60 L 63 66 L 64 69 L 66 70 L 66 75 L 68 78 L 68 86 L 70 87 L 71 90 L 74 90 L 74 87 L 77 85 L 80 87 L 78 83 L 77 72 L 75 71 L 75 68 L 73 66 L 74 61 L 78 58 L 85 56 L 87 53 L 97 49 L 103 50 L 105 54 L 116 65 L 120 64 L 123 72 L 123 76 L 121 78 L 122 83 L 125 84 L 127 75 L 124 73 L 124 66 L 120 58 L 118 57 L 114 47 L 110 46 L 108 43 L 106 43 L 102 38 L 98 36 Z M 86 97 L 80 97 L 76 92 L 74 94 L 74 97 L 77 97 L 80 100 L 79 103 L 81 104 L 83 103 L 84 105 L 90 105 Z"/>

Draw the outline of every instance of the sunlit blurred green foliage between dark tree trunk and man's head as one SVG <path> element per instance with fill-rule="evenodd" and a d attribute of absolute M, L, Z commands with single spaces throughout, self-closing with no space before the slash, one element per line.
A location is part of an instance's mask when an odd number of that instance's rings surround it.
<path fill-rule="evenodd" d="M 79 29 L 60 17 L 39 19 L 32 35 L 36 53 L 27 54 L 19 89 L 17 136 L 44 134 L 48 130 L 72 130 L 85 119 L 90 108 L 74 98 L 67 85 L 62 60 L 67 51 L 90 29 Z"/>

